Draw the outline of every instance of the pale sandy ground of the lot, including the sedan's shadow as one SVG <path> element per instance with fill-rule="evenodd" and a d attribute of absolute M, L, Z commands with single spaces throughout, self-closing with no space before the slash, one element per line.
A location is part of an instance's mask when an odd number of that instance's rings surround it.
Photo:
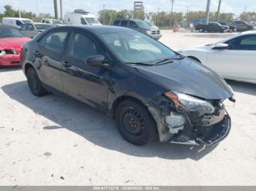
<path fill-rule="evenodd" d="M 230 34 L 173 34 L 161 42 L 208 44 Z M 0 70 L 1 185 L 255 185 L 256 85 L 229 81 L 230 135 L 217 147 L 124 141 L 113 120 L 57 95 L 34 97 L 19 68 Z"/>

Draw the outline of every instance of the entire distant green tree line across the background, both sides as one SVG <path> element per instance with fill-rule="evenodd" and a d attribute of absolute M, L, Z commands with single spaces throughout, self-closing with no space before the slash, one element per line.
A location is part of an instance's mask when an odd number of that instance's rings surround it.
<path fill-rule="evenodd" d="M 155 25 L 160 27 L 173 26 L 178 22 L 191 23 L 193 20 L 202 20 L 206 17 L 206 12 L 204 11 L 189 11 L 183 12 L 133 12 L 127 9 L 121 11 L 116 11 L 113 9 L 102 9 L 98 12 L 99 20 L 105 25 L 110 25 L 116 19 L 124 18 L 135 18 L 140 20 L 151 20 Z M 53 18 L 50 14 L 40 13 L 39 15 L 34 12 L 20 11 L 21 17 L 29 18 L 31 20 L 41 20 L 42 18 Z M 217 13 L 210 12 L 210 20 L 216 20 Z M 0 13 L 0 22 L 2 17 L 19 17 L 18 10 L 15 10 L 10 5 L 4 6 L 4 12 Z M 220 13 L 219 20 L 225 20 L 227 23 L 232 23 L 233 20 L 245 20 L 245 21 L 255 21 L 256 22 L 256 12 L 242 12 L 238 17 L 235 14 L 230 13 Z"/>

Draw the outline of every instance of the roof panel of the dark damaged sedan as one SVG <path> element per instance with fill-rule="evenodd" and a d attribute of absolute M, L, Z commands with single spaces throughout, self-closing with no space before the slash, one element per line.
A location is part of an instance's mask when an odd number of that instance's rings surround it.
<path fill-rule="evenodd" d="M 74 28 L 78 30 L 91 31 L 95 34 L 134 31 L 130 28 L 125 28 L 120 26 L 57 26 L 57 27 L 54 27 L 54 29 L 58 29 L 58 28 Z"/>

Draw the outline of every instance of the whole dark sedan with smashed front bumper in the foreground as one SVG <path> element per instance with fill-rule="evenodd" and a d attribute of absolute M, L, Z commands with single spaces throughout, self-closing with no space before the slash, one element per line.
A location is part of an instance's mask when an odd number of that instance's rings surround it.
<path fill-rule="evenodd" d="M 50 28 L 23 46 L 31 93 L 68 95 L 110 115 L 136 145 L 213 145 L 230 131 L 224 79 L 150 37 L 115 26 Z"/>

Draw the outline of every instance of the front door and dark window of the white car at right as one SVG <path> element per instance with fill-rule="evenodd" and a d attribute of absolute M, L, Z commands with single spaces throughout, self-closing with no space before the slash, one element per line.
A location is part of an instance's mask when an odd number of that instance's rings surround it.
<path fill-rule="evenodd" d="M 225 42 L 227 50 L 211 50 L 207 66 L 224 77 L 256 79 L 256 35 L 240 36 Z"/>

